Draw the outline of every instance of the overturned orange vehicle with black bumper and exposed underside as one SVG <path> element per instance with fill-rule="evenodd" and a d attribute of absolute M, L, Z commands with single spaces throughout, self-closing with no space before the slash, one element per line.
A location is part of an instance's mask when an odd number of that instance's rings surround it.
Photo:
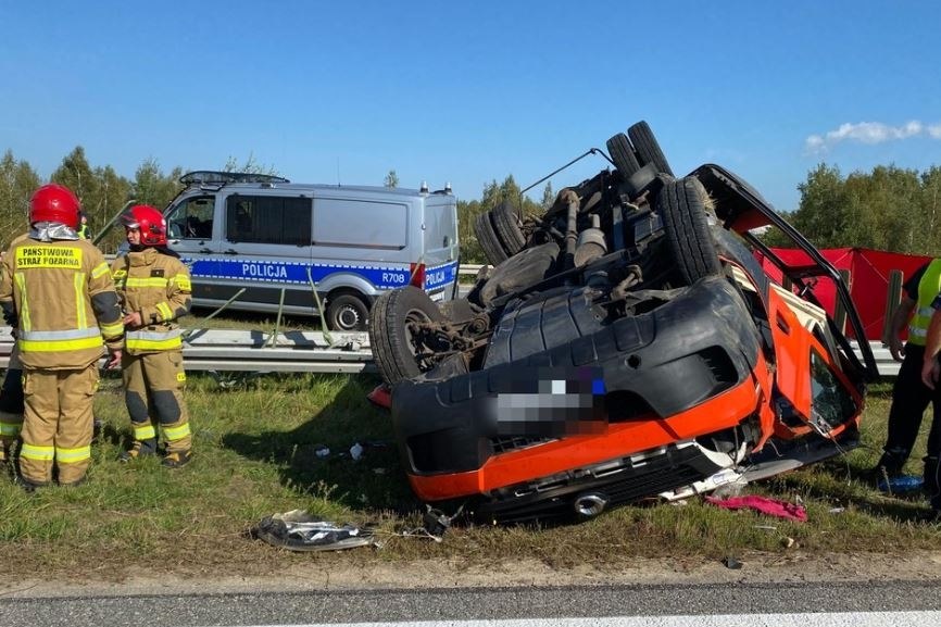
<path fill-rule="evenodd" d="M 675 178 L 645 123 L 607 148 L 614 170 L 544 215 L 478 217 L 494 267 L 466 299 L 406 287 L 375 303 L 373 352 L 422 500 L 489 521 L 591 517 L 856 446 L 876 366 L 820 306 L 828 286 L 864 337 L 837 271 L 723 167 Z M 752 234 L 766 226 L 811 263 L 781 262 Z"/>

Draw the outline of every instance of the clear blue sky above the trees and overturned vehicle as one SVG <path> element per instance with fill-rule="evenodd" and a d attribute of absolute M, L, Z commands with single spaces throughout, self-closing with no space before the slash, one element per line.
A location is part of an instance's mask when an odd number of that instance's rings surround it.
<path fill-rule="evenodd" d="M 0 0 L 0 152 L 470 200 L 647 120 L 678 174 L 718 163 L 789 211 L 820 162 L 941 164 L 939 32 L 927 0 Z"/>

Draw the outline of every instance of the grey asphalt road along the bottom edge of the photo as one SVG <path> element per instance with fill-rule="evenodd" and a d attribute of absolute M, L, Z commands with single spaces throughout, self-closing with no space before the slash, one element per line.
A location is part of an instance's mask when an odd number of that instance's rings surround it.
<path fill-rule="evenodd" d="M 276 585 L 276 582 L 273 582 Z M 97 625 L 216 626 L 310 625 L 336 623 L 436 622 L 459 625 L 466 620 L 545 619 L 541 625 L 599 624 L 592 617 L 647 616 L 642 623 L 622 625 L 786 625 L 810 627 L 812 622 L 780 616 L 781 622 L 757 619 L 757 614 L 884 613 L 930 611 L 931 614 L 868 614 L 830 617 L 814 625 L 928 625 L 941 611 L 939 582 L 812 582 L 724 584 L 685 586 L 454 588 L 424 590 L 342 590 L 326 592 L 259 592 L 199 594 L 113 595 L 88 598 L 0 599 L 0 625 L 85 627 Z M 718 618 L 715 616 L 718 615 Z M 727 615 L 738 615 L 732 620 Z M 689 622 L 689 616 L 699 620 Z M 714 616 L 714 618 L 707 618 Z M 666 620 L 670 617 L 670 620 Z M 920 618 L 919 618 L 920 617 Z M 917 619 L 916 619 L 917 618 Z M 685 622 L 686 620 L 686 622 Z M 927 620 L 927 622 L 926 622 Z M 536 625 L 529 623 L 528 625 Z M 604 620 L 606 625 L 618 623 Z"/>

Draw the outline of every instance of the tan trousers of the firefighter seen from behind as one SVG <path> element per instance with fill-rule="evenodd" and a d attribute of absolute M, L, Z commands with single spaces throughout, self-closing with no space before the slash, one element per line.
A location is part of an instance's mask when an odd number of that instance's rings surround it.
<path fill-rule="evenodd" d="M 23 448 L 20 474 L 30 484 L 75 485 L 91 462 L 91 423 L 98 364 L 80 369 L 23 371 Z"/>

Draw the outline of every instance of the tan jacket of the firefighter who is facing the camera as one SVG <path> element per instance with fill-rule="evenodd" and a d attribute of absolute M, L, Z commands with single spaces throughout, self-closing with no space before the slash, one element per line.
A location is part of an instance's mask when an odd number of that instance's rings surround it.
<path fill-rule="evenodd" d="M 189 312 L 189 271 L 155 248 L 131 251 L 111 264 L 124 311 L 140 312 L 142 326 L 127 327 L 125 350 L 131 355 L 180 350 L 176 319 Z"/>

